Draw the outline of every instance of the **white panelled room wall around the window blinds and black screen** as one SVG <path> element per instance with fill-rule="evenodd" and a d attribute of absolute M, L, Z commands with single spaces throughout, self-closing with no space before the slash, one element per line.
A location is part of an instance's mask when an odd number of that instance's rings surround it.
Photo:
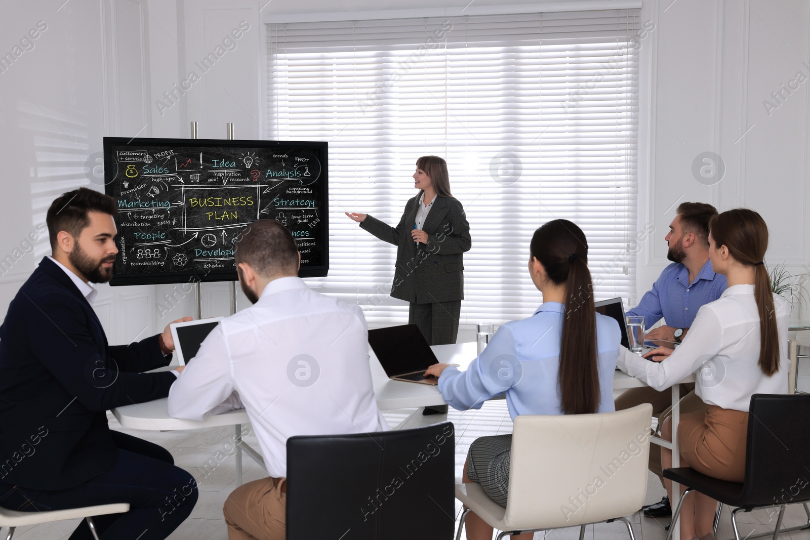
<path fill-rule="evenodd" d="M 59 3 L 17 2 L 0 20 L 3 54 L 38 21 L 48 25 L 34 49 L 0 73 L 0 158 L 6 171 L 0 262 L 6 254 L 14 260 L 11 270 L 0 270 L 3 313 L 49 253 L 46 240 L 34 253 L 14 251 L 44 221 L 49 202 L 79 185 L 100 187 L 92 175 L 88 181 L 84 165 L 101 150 L 104 135 L 186 137 L 194 120 L 201 138 L 224 138 L 227 121 L 235 122 L 237 138 L 266 138 L 263 18 L 463 7 L 449 0 L 74 0 L 58 9 Z M 471 6 L 502 3 L 479 0 Z M 237 48 L 203 74 L 195 62 L 241 21 L 249 30 Z M 638 228 L 652 223 L 655 231 L 639 255 L 639 291 L 667 264 L 663 236 L 677 204 L 690 200 L 712 202 L 719 210 L 760 211 L 771 229 L 769 261 L 810 271 L 808 83 L 785 92 L 770 114 L 763 106 L 797 72 L 810 76 L 803 64 L 810 61 L 810 4 L 645 0 L 642 23 L 648 21 L 654 30 L 641 49 Z M 191 70 L 200 81 L 166 100 L 164 92 Z M 714 185 L 701 184 L 692 172 L 693 160 L 706 151 L 720 155 L 726 167 Z M 97 309 L 112 342 L 129 341 L 143 329 L 142 335 L 156 332 L 193 312 L 192 296 L 180 286 L 101 289 Z M 203 314 L 224 314 L 227 286 L 204 290 Z M 239 302 L 246 302 L 241 293 Z"/>

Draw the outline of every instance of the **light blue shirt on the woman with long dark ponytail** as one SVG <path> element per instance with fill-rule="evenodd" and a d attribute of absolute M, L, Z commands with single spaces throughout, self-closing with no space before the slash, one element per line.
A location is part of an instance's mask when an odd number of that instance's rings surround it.
<path fill-rule="evenodd" d="M 561 415 L 560 340 L 565 308 L 542 304 L 534 315 L 509 321 L 492 336 L 487 348 L 467 371 L 445 368 L 439 391 L 455 409 L 480 409 L 484 401 L 506 393 L 509 416 Z M 613 373 L 621 334 L 615 319 L 596 315 L 599 364 L 598 412 L 612 412 Z"/>

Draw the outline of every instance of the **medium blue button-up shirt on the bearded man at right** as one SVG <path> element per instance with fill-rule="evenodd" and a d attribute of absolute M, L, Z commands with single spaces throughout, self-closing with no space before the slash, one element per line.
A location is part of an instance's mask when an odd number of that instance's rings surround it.
<path fill-rule="evenodd" d="M 689 269 L 680 262 L 667 266 L 659 279 L 653 283 L 638 305 L 627 315 L 643 315 L 646 328 L 652 327 L 661 318 L 675 328 L 689 328 L 703 304 L 720 298 L 726 290 L 726 276 L 715 274 L 711 261 L 706 261 L 692 283 Z"/>

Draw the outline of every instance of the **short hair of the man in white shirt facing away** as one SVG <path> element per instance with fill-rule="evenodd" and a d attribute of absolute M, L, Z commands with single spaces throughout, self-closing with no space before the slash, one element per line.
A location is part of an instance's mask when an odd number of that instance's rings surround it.
<path fill-rule="evenodd" d="M 275 219 L 259 219 L 245 227 L 234 244 L 237 265 L 248 263 L 263 278 L 298 274 L 296 240 Z"/>

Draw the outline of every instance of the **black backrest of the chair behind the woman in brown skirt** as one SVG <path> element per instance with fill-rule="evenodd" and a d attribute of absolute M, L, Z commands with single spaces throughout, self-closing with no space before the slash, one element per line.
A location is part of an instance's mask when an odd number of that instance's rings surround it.
<path fill-rule="evenodd" d="M 810 395 L 755 393 L 749 413 L 744 500 L 752 505 L 810 500 Z"/>

